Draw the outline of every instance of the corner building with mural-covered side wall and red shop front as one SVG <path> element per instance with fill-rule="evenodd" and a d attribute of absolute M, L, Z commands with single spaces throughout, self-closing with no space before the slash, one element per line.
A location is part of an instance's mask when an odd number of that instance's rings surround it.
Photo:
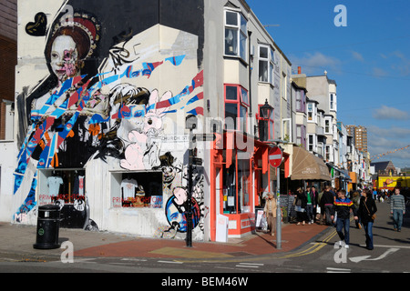
<path fill-rule="evenodd" d="M 192 237 L 219 214 L 251 233 L 291 64 L 246 2 L 25 0 L 18 18 L 13 222 L 53 203 L 63 227 L 184 238 L 196 116 Z"/>

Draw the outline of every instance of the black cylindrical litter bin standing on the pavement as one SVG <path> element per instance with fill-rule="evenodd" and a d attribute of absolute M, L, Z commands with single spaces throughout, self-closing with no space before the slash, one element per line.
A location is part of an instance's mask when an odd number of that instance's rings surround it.
<path fill-rule="evenodd" d="M 38 206 L 36 244 L 34 248 L 58 248 L 60 229 L 60 207 L 56 205 Z"/>

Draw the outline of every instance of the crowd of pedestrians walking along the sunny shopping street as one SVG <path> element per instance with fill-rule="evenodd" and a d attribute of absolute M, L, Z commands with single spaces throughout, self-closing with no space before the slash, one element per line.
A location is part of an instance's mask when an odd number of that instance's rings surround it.
<path fill-rule="evenodd" d="M 372 250 L 374 248 L 373 225 L 377 212 L 375 201 L 383 202 L 386 198 L 390 200 L 394 230 L 400 232 L 405 215 L 405 197 L 400 194 L 399 187 L 387 196 L 368 188 L 347 194 L 343 189 L 334 191 L 331 186 L 325 186 L 321 192 L 318 192 L 315 186 L 308 186 L 306 191 L 299 187 L 293 200 L 296 224 L 304 226 L 316 222 L 319 225 L 335 226 L 340 237 L 340 246 L 348 248 L 350 215 L 353 213 L 355 226 L 364 228 L 366 248 Z M 276 201 L 273 195 L 268 196 L 264 212 L 269 217 L 268 229 L 273 236 L 276 225 Z"/>

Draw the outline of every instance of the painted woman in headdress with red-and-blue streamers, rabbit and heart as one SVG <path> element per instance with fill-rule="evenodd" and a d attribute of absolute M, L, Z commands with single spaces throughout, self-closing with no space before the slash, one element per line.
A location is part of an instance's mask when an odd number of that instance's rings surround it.
<path fill-rule="evenodd" d="M 197 71 L 191 70 L 190 78 L 179 88 L 138 85 L 155 80 L 163 69 L 185 67 L 191 55 L 169 50 L 155 59 L 140 60 L 140 55 L 147 52 L 138 52 L 140 43 L 131 28 L 128 33 L 111 35 L 116 43 L 107 47 L 104 34 L 111 27 L 104 27 L 97 15 L 87 13 L 84 7 L 76 9 L 76 5 L 69 3 L 77 2 L 65 2 L 51 25 L 42 12 L 36 14 L 34 23 L 26 25 L 27 35 L 46 36 L 49 75 L 31 91 L 25 89 L 17 97 L 22 121 L 18 129 L 21 147 L 14 194 L 26 198 L 21 199 L 23 203 L 15 212 L 15 221 L 36 206 L 37 169 L 83 168 L 90 159 L 108 163 L 109 156 L 117 160 L 119 168 L 128 171 L 163 171 L 163 187 L 170 193 L 165 206 L 169 226 L 184 232 L 182 183 L 187 177 L 181 157 L 178 166 L 174 163 L 177 158 L 165 162 L 165 156 L 172 155 L 162 151 L 161 137 L 166 135 L 166 115 L 172 118 L 179 114 L 203 115 L 201 55 Z M 93 5 L 99 4 L 93 2 Z M 169 78 L 178 77 L 169 75 Z M 176 177 L 175 173 L 180 175 Z M 203 230 L 203 175 L 198 173 L 196 179 L 192 201 L 194 226 Z M 26 185 L 30 185 L 28 193 L 25 193 Z M 97 226 L 87 228 L 97 229 Z"/>

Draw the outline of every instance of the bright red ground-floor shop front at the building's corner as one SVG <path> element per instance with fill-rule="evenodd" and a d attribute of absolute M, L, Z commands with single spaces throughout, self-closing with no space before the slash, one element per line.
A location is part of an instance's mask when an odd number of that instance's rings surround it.
<path fill-rule="evenodd" d="M 246 145 L 246 146 L 245 146 Z M 230 237 L 255 230 L 255 207 L 270 191 L 269 146 L 238 132 L 218 135 L 210 151 L 210 239 L 218 215 L 229 218 Z M 275 173 L 272 173 L 275 175 Z"/>

